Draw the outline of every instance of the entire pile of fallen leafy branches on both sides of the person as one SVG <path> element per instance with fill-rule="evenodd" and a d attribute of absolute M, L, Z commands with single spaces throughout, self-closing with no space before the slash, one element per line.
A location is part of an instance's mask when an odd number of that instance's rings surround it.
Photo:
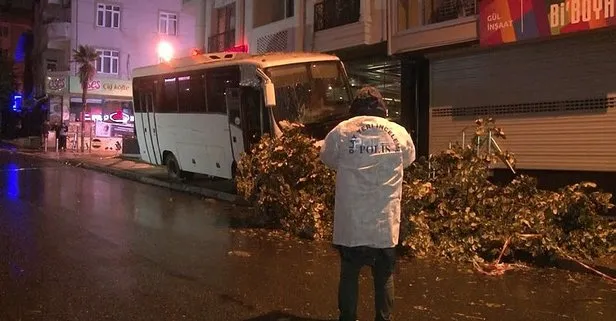
<path fill-rule="evenodd" d="M 493 120 L 476 122 L 472 142 L 504 139 Z M 316 141 L 297 124 L 269 136 L 244 155 L 238 192 L 270 227 L 296 235 L 331 237 L 335 173 L 319 160 Z M 489 179 L 498 160 L 515 158 L 482 144 L 451 146 L 418 160 L 405 173 L 401 246 L 410 255 L 456 261 L 570 256 L 590 259 L 616 252 L 616 226 L 601 214 L 611 194 L 591 182 L 558 192 L 520 175 L 500 186 Z"/>

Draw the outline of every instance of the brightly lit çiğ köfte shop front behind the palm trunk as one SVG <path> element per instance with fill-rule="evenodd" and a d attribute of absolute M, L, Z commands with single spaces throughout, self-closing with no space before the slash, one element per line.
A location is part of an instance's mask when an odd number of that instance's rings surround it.
<path fill-rule="evenodd" d="M 95 77 L 88 84 L 84 112 L 79 78 L 62 74 L 47 79 L 51 124 L 69 125 L 68 149 L 81 148 L 81 117 L 86 124 L 86 149 L 122 151 L 123 141 L 134 138 L 132 85 L 129 80 Z"/>

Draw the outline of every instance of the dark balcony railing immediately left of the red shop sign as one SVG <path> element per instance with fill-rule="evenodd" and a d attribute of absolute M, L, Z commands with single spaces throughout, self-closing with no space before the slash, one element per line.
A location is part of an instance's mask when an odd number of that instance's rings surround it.
<path fill-rule="evenodd" d="M 424 0 L 423 4 L 425 25 L 477 14 L 477 0 Z"/>

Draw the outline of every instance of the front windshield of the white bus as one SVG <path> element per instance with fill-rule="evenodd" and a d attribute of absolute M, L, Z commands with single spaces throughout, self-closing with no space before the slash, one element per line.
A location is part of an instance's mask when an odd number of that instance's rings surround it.
<path fill-rule="evenodd" d="M 348 113 L 348 82 L 338 61 L 270 67 L 265 73 L 276 90 L 277 120 L 320 123 Z"/>

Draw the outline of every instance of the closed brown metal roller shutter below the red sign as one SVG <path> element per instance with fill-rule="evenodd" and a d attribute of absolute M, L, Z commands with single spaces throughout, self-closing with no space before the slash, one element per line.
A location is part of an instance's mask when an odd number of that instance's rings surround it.
<path fill-rule="evenodd" d="M 518 168 L 616 171 L 616 32 L 431 57 L 430 152 L 494 117 Z"/>

